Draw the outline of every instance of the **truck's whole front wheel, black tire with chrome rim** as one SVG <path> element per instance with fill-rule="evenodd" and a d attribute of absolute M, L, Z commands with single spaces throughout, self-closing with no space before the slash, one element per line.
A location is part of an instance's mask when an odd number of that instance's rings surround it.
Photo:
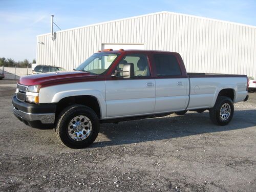
<path fill-rule="evenodd" d="M 56 135 L 70 148 L 84 148 L 97 138 L 99 120 L 95 112 L 84 105 L 71 105 L 59 115 Z"/>

